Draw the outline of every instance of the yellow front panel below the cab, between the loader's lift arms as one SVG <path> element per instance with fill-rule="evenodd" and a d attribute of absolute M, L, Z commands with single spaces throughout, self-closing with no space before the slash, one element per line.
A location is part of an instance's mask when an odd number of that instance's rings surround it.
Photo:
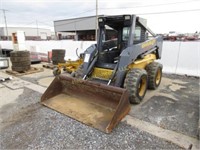
<path fill-rule="evenodd" d="M 112 69 L 104 69 L 95 67 L 92 72 L 93 78 L 110 79 L 113 73 Z"/>

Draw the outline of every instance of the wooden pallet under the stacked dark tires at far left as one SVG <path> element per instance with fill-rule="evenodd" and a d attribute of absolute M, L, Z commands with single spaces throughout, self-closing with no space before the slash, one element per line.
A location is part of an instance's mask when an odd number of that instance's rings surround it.
<path fill-rule="evenodd" d="M 13 75 L 13 76 L 23 76 L 23 75 L 27 75 L 27 74 L 42 72 L 42 71 L 44 71 L 43 68 L 31 67 L 31 69 L 29 69 L 27 71 L 17 72 L 17 71 L 13 71 L 13 70 L 6 70 L 6 73 Z"/>

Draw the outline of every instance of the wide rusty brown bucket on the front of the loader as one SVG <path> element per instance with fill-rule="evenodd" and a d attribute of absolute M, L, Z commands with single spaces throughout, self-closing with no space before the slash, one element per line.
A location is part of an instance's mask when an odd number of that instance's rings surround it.
<path fill-rule="evenodd" d="M 127 90 L 65 75 L 53 80 L 41 103 L 106 133 L 130 110 Z"/>

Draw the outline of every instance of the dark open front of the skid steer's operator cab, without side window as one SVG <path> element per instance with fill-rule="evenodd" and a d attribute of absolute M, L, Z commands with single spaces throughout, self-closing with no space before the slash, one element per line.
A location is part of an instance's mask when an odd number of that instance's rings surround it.
<path fill-rule="evenodd" d="M 131 19 L 130 15 L 128 18 L 124 15 L 99 18 L 97 67 L 114 69 L 121 51 L 127 46 L 128 39 L 122 37 L 124 28 L 131 26 Z"/>

